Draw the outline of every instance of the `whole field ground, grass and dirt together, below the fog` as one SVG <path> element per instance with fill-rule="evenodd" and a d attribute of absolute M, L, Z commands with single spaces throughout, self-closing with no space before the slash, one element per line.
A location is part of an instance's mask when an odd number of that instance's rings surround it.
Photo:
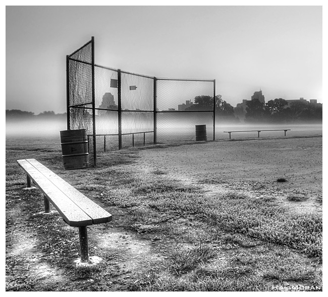
<path fill-rule="evenodd" d="M 322 137 L 135 147 L 74 171 L 64 170 L 58 140 L 6 139 L 7 291 L 322 290 L 322 192 L 308 180 L 322 179 L 322 155 L 312 153 L 322 151 Z M 253 147 L 269 152 L 291 141 L 297 149 L 279 151 L 286 166 L 261 174 L 277 160 L 254 161 Z M 199 152 L 217 156 L 218 147 L 227 152 L 220 168 L 210 170 L 214 160 L 201 169 Z M 184 154 L 198 172 L 182 166 Z M 286 163 L 292 157 L 294 167 Z M 37 159 L 113 214 L 111 223 L 89 228 L 90 255 L 102 259 L 96 267 L 75 267 L 76 228 L 56 212 L 38 214 L 43 196 L 23 189 L 16 165 L 23 158 Z M 245 169 L 247 179 L 229 168 L 236 158 L 255 166 Z"/>

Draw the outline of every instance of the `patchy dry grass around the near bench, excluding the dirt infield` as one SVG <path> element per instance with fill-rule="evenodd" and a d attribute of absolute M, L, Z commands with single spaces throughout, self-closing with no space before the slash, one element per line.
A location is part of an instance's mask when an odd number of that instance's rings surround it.
<path fill-rule="evenodd" d="M 319 213 L 291 214 L 272 197 L 243 191 L 204 195 L 199 185 L 187 186 L 159 168 L 141 170 L 137 148 L 99 155 L 97 168 L 65 171 L 58 149 L 24 146 L 7 147 L 6 153 L 8 291 L 271 291 L 284 283 L 322 290 Z M 91 237 L 90 254 L 103 261 L 76 268 L 78 232 L 56 213 L 33 215 L 42 210 L 42 194 L 22 190 L 25 176 L 15 163 L 21 158 L 36 158 L 113 210 L 115 228 L 142 240 L 147 255 L 134 268 L 123 268 L 136 256 Z M 111 237 L 108 224 L 92 232 L 104 243 Z M 22 234 L 33 245 L 19 254 Z M 56 282 L 26 269 L 33 254 L 40 255 L 33 265 L 49 267 Z"/>

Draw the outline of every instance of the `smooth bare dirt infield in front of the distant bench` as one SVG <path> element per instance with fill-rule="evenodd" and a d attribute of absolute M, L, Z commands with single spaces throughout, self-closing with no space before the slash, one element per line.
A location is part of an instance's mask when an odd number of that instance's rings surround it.
<path fill-rule="evenodd" d="M 322 138 L 214 141 L 140 152 L 144 170 L 166 172 L 209 195 L 229 191 L 273 197 L 295 212 L 320 212 Z M 277 182 L 279 178 L 286 182 Z M 301 194 L 304 201 L 289 201 Z"/>

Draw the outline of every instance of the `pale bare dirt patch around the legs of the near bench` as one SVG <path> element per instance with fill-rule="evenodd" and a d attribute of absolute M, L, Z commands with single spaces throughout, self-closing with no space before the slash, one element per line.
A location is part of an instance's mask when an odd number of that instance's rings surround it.
<path fill-rule="evenodd" d="M 17 275 L 21 275 L 21 280 L 19 280 L 21 283 L 16 283 L 15 290 L 20 291 L 28 291 L 30 287 L 33 287 L 33 290 L 42 291 L 61 290 L 62 287 L 66 290 L 81 290 L 83 287 L 85 287 L 83 290 L 94 290 L 92 289 L 93 278 L 85 277 L 83 272 L 81 277 L 69 281 L 70 272 L 68 271 L 79 268 L 76 264 L 79 260 L 78 252 L 69 251 L 69 261 L 61 263 L 61 268 L 53 265 L 53 259 L 57 256 L 61 257 L 60 246 L 64 246 L 64 243 L 59 241 L 51 255 L 40 249 L 40 243 L 47 241 L 45 236 L 37 232 L 38 229 L 47 228 L 40 218 L 47 216 L 47 224 L 59 224 L 63 233 L 73 233 L 72 241 L 75 245 L 78 245 L 79 241 L 78 229 L 64 224 L 56 210 L 52 209 L 51 214 L 42 213 L 40 191 L 38 189 L 23 190 L 24 185 L 21 187 L 21 190 L 14 189 L 10 192 L 9 196 L 14 199 L 8 199 L 6 207 L 7 290 L 11 290 L 12 279 L 17 281 Z M 28 198 L 34 203 L 35 200 L 39 200 L 36 202 L 38 206 L 33 208 L 37 212 L 33 213 L 33 210 L 26 209 Z M 108 210 L 115 213 L 115 219 L 112 222 L 88 228 L 89 250 L 90 257 L 100 256 L 100 263 L 108 267 L 104 269 L 107 272 L 104 278 L 111 278 L 111 281 L 106 282 L 111 286 L 106 285 L 102 290 L 116 291 L 122 290 L 129 279 L 136 274 L 140 275 L 149 267 L 158 265 L 162 256 L 156 253 L 154 242 L 122 227 L 129 214 L 116 207 L 113 207 L 113 211 Z M 103 255 L 106 258 L 102 258 Z M 50 258 L 52 262 L 49 261 Z M 90 275 L 92 276 L 92 273 Z M 101 290 L 101 286 L 97 285 L 98 289 Z"/>

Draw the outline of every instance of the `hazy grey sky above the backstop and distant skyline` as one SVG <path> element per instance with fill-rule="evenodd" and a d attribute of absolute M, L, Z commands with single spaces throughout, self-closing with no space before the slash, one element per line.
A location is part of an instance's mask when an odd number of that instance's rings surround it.
<path fill-rule="evenodd" d="M 215 79 L 233 106 L 322 103 L 321 6 L 7 6 L 6 109 L 66 112 L 66 55 L 95 38 L 95 63 Z"/>

